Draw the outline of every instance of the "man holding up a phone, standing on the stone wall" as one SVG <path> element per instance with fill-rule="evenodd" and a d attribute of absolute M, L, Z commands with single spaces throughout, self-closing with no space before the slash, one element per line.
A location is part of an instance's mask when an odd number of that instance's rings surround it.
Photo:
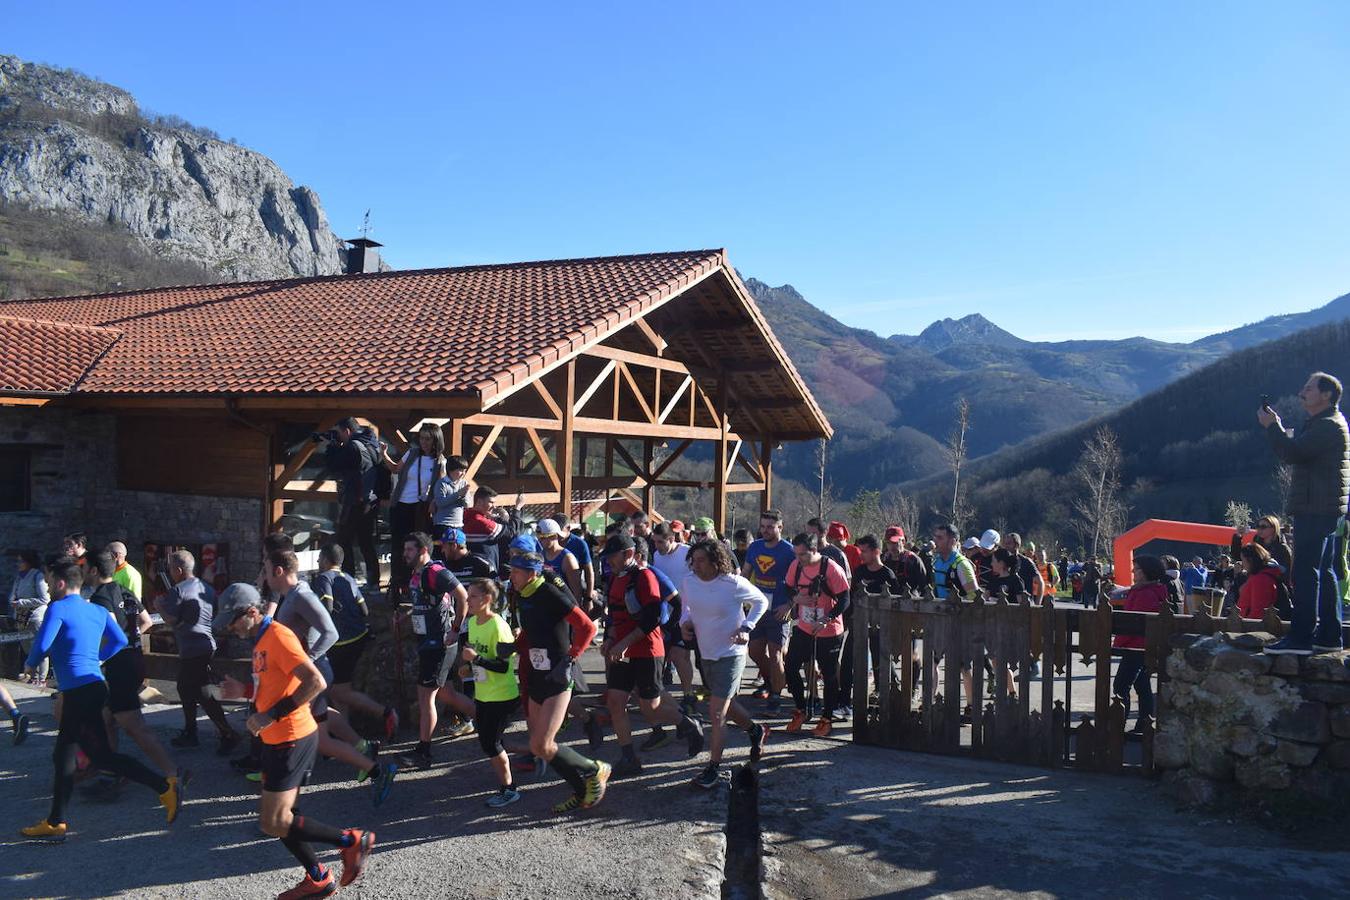
<path fill-rule="evenodd" d="M 1266 653 L 1311 656 L 1341 649 L 1341 596 L 1334 560 L 1336 529 L 1350 498 L 1350 432 L 1341 414 L 1341 382 L 1314 372 L 1299 391 L 1308 414 L 1285 432 L 1268 402 L 1257 410 L 1270 448 L 1293 467 L 1288 510 L 1293 517 L 1293 621 Z"/>

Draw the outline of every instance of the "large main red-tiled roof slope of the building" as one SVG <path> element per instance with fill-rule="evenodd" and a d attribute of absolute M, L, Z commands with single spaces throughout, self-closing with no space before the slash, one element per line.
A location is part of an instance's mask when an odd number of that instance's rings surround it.
<path fill-rule="evenodd" d="M 5 301 L 0 316 L 86 328 L 16 329 L 18 343 L 0 340 L 0 381 L 15 370 L 22 390 L 51 393 L 487 398 L 722 266 L 701 250 Z M 65 328 L 80 349 L 34 363 L 22 332 L 36 328 Z"/>

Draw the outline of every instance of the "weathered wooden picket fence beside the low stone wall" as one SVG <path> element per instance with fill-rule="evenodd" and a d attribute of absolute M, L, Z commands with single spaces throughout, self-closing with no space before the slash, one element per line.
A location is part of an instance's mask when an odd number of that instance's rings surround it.
<path fill-rule="evenodd" d="M 853 610 L 855 741 L 1096 772 L 1153 770 L 1154 725 L 1146 722 L 1137 742 L 1127 739 L 1125 706 L 1112 695 L 1112 636 L 1145 638 L 1161 719 L 1168 715 L 1160 688 L 1173 634 L 1281 636 L 1288 627 L 1273 610 L 1256 621 L 1237 610 L 1214 618 L 1204 611 L 1125 613 L 1108 603 L 1085 610 L 864 592 L 855 594 Z M 868 633 L 871 641 L 863 641 Z M 878 660 L 872 692 L 869 644 Z M 994 673 L 992 696 L 987 696 L 986 658 Z M 963 672 L 977 700 L 968 712 Z M 1084 690 L 1091 708 L 1075 710 L 1075 692 Z"/>

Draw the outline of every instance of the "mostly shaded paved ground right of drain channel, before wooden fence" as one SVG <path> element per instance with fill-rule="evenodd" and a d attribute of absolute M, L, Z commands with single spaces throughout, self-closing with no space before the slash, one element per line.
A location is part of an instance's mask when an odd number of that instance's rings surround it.
<path fill-rule="evenodd" d="M 814 738 L 761 777 L 767 893 L 1345 896 L 1350 853 L 1176 811 L 1156 783 Z"/>

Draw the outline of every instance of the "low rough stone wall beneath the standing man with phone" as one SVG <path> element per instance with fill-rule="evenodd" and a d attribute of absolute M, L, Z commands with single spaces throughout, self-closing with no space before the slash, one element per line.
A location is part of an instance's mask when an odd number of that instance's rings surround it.
<path fill-rule="evenodd" d="M 1273 640 L 1173 638 L 1153 750 L 1184 801 L 1350 796 L 1350 658 L 1264 654 Z"/>

